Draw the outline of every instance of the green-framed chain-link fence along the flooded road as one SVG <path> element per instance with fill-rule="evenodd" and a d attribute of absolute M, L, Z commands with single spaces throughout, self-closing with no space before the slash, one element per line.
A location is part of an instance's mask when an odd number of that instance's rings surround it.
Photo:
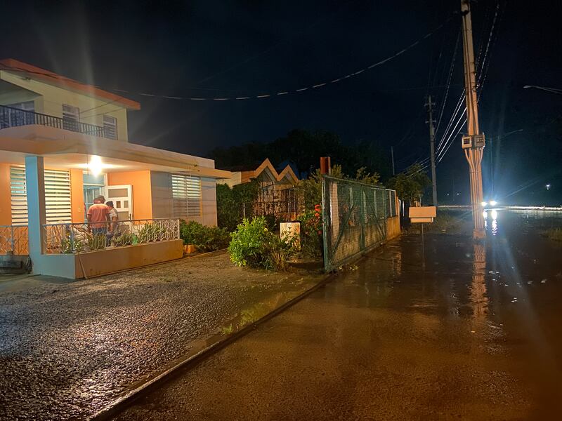
<path fill-rule="evenodd" d="M 330 271 L 379 246 L 396 216 L 396 192 L 352 180 L 322 180 L 324 266 Z"/>

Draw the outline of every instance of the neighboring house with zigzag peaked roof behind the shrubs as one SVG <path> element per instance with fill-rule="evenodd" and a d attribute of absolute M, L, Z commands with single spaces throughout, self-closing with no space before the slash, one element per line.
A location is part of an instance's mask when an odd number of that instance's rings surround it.
<path fill-rule="evenodd" d="M 232 177 L 224 182 L 230 187 L 251 180 L 259 183 L 258 199 L 253 203 L 254 215 L 275 215 L 276 218 L 294 220 L 299 213 L 299 199 L 294 186 L 299 182 L 287 165 L 278 173 L 269 159 L 254 166 L 228 168 Z"/>

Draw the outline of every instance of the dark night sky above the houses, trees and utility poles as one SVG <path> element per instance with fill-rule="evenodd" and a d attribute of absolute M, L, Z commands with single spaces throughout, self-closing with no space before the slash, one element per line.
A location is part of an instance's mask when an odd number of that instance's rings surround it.
<path fill-rule="evenodd" d="M 443 24 L 457 0 L 433 1 L 7 1 L 0 58 L 15 58 L 141 102 L 129 114 L 129 140 L 188 154 L 269 142 L 293 128 L 334 131 L 346 143 L 373 140 L 403 170 L 429 156 L 425 96 L 437 117 L 460 18 L 384 65 L 341 83 L 274 98 L 189 101 L 152 93 L 232 98 L 294 91 L 383 60 Z M 504 202 L 562 203 L 560 1 L 481 0 L 474 44 L 485 56 L 481 130 L 497 137 L 483 163 L 490 195 Z M 8 18 L 9 17 L 9 18 Z M 484 54 L 495 19 L 488 54 Z M 437 133 L 462 93 L 462 43 Z M 455 131 L 456 133 L 456 131 Z M 460 135 L 438 166 L 438 190 L 468 200 Z M 490 153 L 491 151 L 491 153 Z M 546 191 L 544 185 L 552 188 Z M 518 191 L 521 189 L 521 191 Z M 487 193 L 488 192 L 488 193 Z"/>

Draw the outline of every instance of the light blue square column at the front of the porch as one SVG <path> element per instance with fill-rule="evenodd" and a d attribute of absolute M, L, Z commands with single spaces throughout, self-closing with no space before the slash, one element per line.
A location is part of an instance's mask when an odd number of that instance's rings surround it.
<path fill-rule="evenodd" d="M 27 190 L 27 231 L 30 241 L 30 258 L 34 263 L 41 260 L 44 244 L 42 228 L 46 224 L 43 156 L 25 157 L 25 187 Z"/>

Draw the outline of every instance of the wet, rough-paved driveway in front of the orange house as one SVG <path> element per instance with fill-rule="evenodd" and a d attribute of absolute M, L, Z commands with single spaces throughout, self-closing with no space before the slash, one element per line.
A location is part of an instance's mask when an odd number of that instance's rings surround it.
<path fill-rule="evenodd" d="M 0 419 L 93 415 L 322 278 L 242 269 L 223 252 L 84 281 L 4 281 Z"/>

